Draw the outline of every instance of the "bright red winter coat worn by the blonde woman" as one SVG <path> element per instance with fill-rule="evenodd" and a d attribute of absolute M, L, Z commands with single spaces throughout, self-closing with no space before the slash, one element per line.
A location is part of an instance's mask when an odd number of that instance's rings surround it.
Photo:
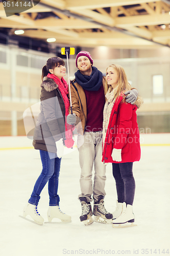
<path fill-rule="evenodd" d="M 142 103 L 138 98 L 135 105 L 122 102 L 120 96 L 113 105 L 104 142 L 102 162 L 126 163 L 140 160 L 139 129 L 137 124 L 137 105 Z M 122 161 L 113 161 L 113 148 L 122 149 Z"/>

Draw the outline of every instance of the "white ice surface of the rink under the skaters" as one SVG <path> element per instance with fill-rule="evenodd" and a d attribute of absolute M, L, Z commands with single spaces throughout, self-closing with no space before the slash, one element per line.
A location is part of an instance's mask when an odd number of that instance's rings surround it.
<path fill-rule="evenodd" d="M 80 222 L 79 153 L 62 158 L 60 208 L 72 217 L 68 224 L 36 225 L 19 217 L 41 172 L 39 151 L 27 137 L 0 137 L 1 256 L 168 255 L 170 253 L 170 134 L 141 134 L 141 160 L 133 167 L 136 192 L 132 228 Z M 111 164 L 106 167 L 105 207 L 115 209 L 116 190 Z M 47 185 L 38 211 L 47 222 Z M 57 221 L 57 220 L 53 220 Z M 168 251 L 167 251 L 168 249 Z M 156 253 L 157 252 L 157 253 Z"/>

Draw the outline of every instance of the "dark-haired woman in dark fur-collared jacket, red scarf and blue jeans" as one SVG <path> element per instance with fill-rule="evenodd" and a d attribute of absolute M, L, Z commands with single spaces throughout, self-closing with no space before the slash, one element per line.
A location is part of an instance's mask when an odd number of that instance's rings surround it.
<path fill-rule="evenodd" d="M 40 114 L 33 138 L 34 148 L 40 151 L 42 172 L 23 210 L 23 217 L 30 215 L 38 224 L 44 221 L 38 214 L 37 205 L 47 181 L 50 197 L 48 221 L 51 222 L 53 218 L 61 219 L 62 222 L 71 221 L 71 217 L 60 210 L 60 198 L 57 194 L 63 143 L 67 147 L 72 147 L 74 144 L 72 126 L 65 122 L 69 109 L 68 86 L 63 78 L 65 71 L 64 60 L 59 57 L 49 58 L 42 69 Z"/>

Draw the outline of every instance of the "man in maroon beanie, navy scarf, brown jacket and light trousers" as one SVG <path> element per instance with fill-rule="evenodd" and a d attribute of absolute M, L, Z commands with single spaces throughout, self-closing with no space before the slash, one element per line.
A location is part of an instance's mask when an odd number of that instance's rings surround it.
<path fill-rule="evenodd" d="M 103 109 L 105 105 L 105 77 L 97 68 L 92 67 L 93 60 L 89 52 L 81 51 L 76 57 L 78 71 L 71 81 L 71 102 L 73 115 L 67 122 L 75 124 L 78 131 L 78 150 L 81 167 L 79 200 L 82 206 L 80 221 L 85 225 L 93 222 L 112 223 L 112 214 L 105 209 L 104 197 L 106 165 L 102 158 Z M 136 100 L 138 93 L 131 91 L 128 98 Z M 128 101 L 129 102 L 129 101 Z M 131 101 L 130 101 L 131 102 Z M 81 122 L 78 122 L 81 120 Z M 81 137 L 84 143 L 80 143 Z M 81 145 L 82 144 L 82 145 Z M 94 164 L 94 182 L 92 185 L 92 167 Z M 91 203 L 93 200 L 93 212 Z M 92 215 L 94 218 L 92 219 Z"/>

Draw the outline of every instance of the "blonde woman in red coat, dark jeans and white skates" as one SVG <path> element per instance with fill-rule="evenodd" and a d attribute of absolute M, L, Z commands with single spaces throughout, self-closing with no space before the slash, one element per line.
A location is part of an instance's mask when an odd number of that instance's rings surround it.
<path fill-rule="evenodd" d="M 132 204 L 135 180 L 132 166 L 140 160 L 139 129 L 136 110 L 142 103 L 140 97 L 134 104 L 125 101 L 124 93 L 131 90 L 124 69 L 110 65 L 106 71 L 106 103 L 103 121 L 103 163 L 112 163 L 116 182 L 117 207 L 113 212 L 113 227 L 132 226 Z"/>

